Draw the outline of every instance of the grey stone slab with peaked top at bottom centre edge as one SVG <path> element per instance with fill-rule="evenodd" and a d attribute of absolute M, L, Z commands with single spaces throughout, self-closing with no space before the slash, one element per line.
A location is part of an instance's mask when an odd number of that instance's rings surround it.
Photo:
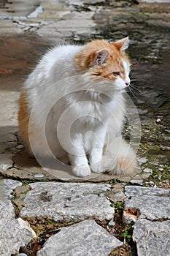
<path fill-rule="evenodd" d="M 95 221 L 88 219 L 70 227 L 61 228 L 60 232 L 47 240 L 38 255 L 107 256 L 122 244 Z"/>

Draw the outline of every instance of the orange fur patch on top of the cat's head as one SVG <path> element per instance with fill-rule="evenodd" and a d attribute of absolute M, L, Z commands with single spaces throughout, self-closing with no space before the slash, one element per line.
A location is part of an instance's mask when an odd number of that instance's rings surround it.
<path fill-rule="evenodd" d="M 123 59 L 129 62 L 128 56 L 124 51 L 120 50 L 123 42 L 107 42 L 105 40 L 93 40 L 85 45 L 80 53 L 75 56 L 75 65 L 80 69 L 89 69 L 89 75 L 96 75 L 109 80 L 115 80 L 113 72 L 120 72 L 121 78 L 125 79 L 125 70 L 123 67 Z M 97 66 L 94 63 L 98 50 L 106 49 L 109 51 L 107 64 Z"/>

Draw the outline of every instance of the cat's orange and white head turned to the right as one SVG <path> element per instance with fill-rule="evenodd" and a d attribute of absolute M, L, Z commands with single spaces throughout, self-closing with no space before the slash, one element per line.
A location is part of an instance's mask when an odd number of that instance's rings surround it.
<path fill-rule="evenodd" d="M 130 84 L 130 61 L 125 54 L 128 48 L 128 37 L 117 42 L 93 40 L 75 57 L 79 69 L 98 81 L 109 80 L 115 89 L 123 90 Z"/>

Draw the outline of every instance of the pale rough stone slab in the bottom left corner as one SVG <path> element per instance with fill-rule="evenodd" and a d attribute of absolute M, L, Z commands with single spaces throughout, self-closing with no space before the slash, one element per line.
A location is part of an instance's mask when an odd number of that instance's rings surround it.
<path fill-rule="evenodd" d="M 20 249 L 20 246 L 25 246 L 33 238 L 36 238 L 36 233 L 28 223 L 23 219 L 12 219 L 5 222 L 0 219 L 1 240 L 0 240 L 0 255 L 9 256 Z"/>

